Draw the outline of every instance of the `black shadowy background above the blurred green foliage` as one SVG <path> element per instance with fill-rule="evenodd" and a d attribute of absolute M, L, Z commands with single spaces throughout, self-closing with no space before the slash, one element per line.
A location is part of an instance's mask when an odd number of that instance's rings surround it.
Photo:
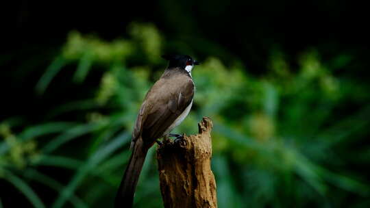
<path fill-rule="evenodd" d="M 112 40 L 124 37 L 127 25 L 133 21 L 154 23 L 168 42 L 186 42 L 184 49 L 170 48 L 171 52 L 190 48 L 199 58 L 215 55 L 225 64 L 241 60 L 255 75 L 266 72 L 273 49 L 284 51 L 289 64 L 295 66 L 301 51 L 310 48 L 318 49 L 323 61 L 338 53 L 351 54 L 354 59 L 347 70 L 349 76 L 367 82 L 369 75 L 369 14 L 360 2 L 13 1 L 3 10 L 6 38 L 1 53 L 4 60 L 16 56 L 2 67 L 1 84 L 3 89 L 10 88 L 5 90 L 5 97 L 12 97 L 11 102 L 3 104 L 16 112 L 24 109 L 21 103 L 32 94 L 27 91 L 32 88 L 14 84 L 17 67 L 49 64 L 73 29 Z M 38 57 L 45 59 L 35 61 Z M 31 80 L 28 77 L 20 81 Z"/>

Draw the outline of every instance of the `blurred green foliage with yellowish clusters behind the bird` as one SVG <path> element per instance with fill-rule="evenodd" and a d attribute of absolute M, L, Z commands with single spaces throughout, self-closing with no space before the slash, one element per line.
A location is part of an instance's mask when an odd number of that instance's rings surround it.
<path fill-rule="evenodd" d="M 130 157 L 136 114 L 164 68 L 160 54 L 168 47 L 153 25 L 134 23 L 128 34 L 107 42 L 72 31 L 36 92 L 53 93 L 47 88 L 69 66 L 75 70 L 65 79 L 93 94 L 42 115 L 50 122 L 21 124 L 14 131 L 11 119 L 1 122 L 0 177 L 34 207 L 112 203 Z M 319 51 L 311 49 L 299 57 L 298 68 L 286 62 L 282 51 L 273 51 L 263 77 L 248 75 L 239 65 L 225 66 L 217 57 L 195 68 L 195 106 L 175 131 L 196 133 L 202 116 L 212 118 L 219 207 L 341 207 L 349 198 L 356 198 L 353 205 L 369 203 L 370 184 L 346 165 L 358 159 L 351 158 L 357 150 L 349 146 L 367 132 L 370 108 L 360 105 L 344 115 L 336 111 L 350 100 L 369 101 L 366 90 L 334 74 L 349 60 L 338 55 L 322 63 Z M 97 74 L 100 81 L 86 87 L 89 76 Z M 75 117 L 58 120 L 71 112 Z M 84 145 L 75 146 L 80 140 Z M 162 207 L 154 151 L 140 177 L 136 207 Z M 358 151 L 364 155 L 358 164 L 369 163 L 369 151 Z M 67 179 L 58 181 L 58 171 L 42 172 L 45 166 L 69 170 Z M 52 205 L 42 203 L 42 194 L 27 185 L 31 181 L 55 192 Z"/>

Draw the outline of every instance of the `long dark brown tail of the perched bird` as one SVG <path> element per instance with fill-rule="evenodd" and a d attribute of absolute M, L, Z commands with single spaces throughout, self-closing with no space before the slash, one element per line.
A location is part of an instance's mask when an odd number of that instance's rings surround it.
<path fill-rule="evenodd" d="M 114 207 L 132 207 L 132 204 L 134 203 L 136 184 L 138 183 L 138 178 L 140 176 L 141 169 L 143 168 L 145 157 L 147 157 L 147 152 L 148 148 L 143 145 L 143 140 L 136 140 L 132 148 L 130 161 L 116 194 Z"/>

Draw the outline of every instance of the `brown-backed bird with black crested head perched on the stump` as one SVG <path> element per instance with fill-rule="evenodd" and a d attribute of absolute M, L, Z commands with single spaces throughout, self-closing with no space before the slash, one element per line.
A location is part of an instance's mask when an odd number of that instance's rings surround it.
<path fill-rule="evenodd" d="M 163 55 L 169 61 L 162 77 L 147 92 L 132 132 L 132 155 L 115 199 L 115 207 L 132 207 L 136 184 L 147 152 L 159 138 L 180 125 L 193 105 L 194 82 L 191 70 L 199 62 L 188 55 Z M 160 142 L 158 142 L 160 144 Z"/>

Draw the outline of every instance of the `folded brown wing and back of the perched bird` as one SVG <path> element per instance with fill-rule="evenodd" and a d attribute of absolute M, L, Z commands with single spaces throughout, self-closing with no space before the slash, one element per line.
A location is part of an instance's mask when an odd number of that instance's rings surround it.
<path fill-rule="evenodd" d="M 193 99 L 194 83 L 185 73 L 159 79 L 145 96 L 134 128 L 133 142 L 142 135 L 147 143 L 164 131 L 184 112 Z"/>

